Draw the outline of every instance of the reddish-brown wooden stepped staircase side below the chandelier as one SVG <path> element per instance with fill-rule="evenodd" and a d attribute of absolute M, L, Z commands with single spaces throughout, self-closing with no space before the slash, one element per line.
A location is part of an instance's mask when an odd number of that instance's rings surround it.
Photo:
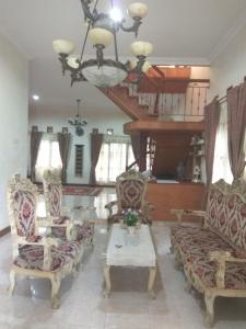
<path fill-rule="evenodd" d="M 98 89 L 133 121 L 150 120 L 149 106 L 139 104 L 139 97 L 130 94 L 127 86 Z"/>

